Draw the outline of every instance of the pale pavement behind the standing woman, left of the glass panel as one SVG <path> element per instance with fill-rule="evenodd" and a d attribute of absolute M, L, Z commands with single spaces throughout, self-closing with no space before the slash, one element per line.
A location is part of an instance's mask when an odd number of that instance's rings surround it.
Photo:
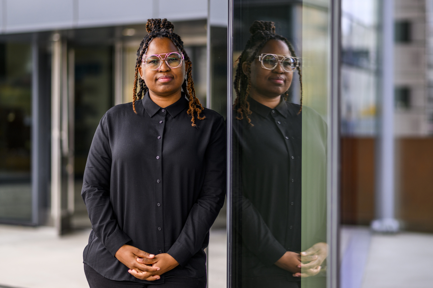
<path fill-rule="evenodd" d="M 82 253 L 89 234 L 0 225 L 0 288 L 88 288 Z M 211 231 L 209 253 L 209 287 L 226 287 L 225 230 Z"/>

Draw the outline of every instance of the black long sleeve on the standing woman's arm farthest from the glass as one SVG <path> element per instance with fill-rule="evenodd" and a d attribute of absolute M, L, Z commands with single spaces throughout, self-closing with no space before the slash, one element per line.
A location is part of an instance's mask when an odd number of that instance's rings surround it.
<path fill-rule="evenodd" d="M 110 202 L 111 162 L 107 114 L 105 114 L 90 146 L 81 196 L 86 204 L 92 229 L 103 246 L 114 256 L 117 250 L 131 238 L 120 229 Z"/>

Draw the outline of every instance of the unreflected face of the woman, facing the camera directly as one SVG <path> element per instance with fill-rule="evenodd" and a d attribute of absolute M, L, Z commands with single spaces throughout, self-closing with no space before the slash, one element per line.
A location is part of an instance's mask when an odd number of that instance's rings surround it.
<path fill-rule="evenodd" d="M 174 45 L 169 38 L 154 38 L 149 43 L 145 55 L 163 54 L 170 52 L 179 52 L 179 49 Z M 162 58 L 165 55 L 161 55 Z M 181 90 L 182 83 L 185 80 L 187 64 L 182 61 L 182 65 L 177 68 L 168 67 L 165 61 L 162 61 L 161 67 L 158 70 L 148 69 L 143 62 L 139 67 L 139 74 L 144 80 L 150 92 L 158 96 L 171 96 Z"/>

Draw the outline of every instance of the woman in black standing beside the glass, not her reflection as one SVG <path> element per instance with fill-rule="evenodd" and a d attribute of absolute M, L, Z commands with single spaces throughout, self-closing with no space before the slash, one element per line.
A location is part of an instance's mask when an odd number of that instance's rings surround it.
<path fill-rule="evenodd" d="M 206 287 L 204 248 L 224 201 L 225 126 L 196 98 L 173 28 L 148 20 L 133 101 L 107 111 L 90 147 L 81 192 L 92 223 L 90 288 Z"/>

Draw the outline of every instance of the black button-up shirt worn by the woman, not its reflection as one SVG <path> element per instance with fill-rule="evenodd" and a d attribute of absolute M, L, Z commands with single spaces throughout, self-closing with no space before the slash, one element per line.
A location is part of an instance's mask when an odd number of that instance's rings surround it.
<path fill-rule="evenodd" d="M 92 231 L 84 263 L 112 280 L 140 283 L 114 254 L 124 244 L 168 253 L 179 266 L 164 275 L 206 274 L 204 248 L 225 195 L 224 119 L 205 109 L 191 126 L 182 93 L 161 108 L 146 94 L 103 116 L 94 135 L 81 195 Z"/>

